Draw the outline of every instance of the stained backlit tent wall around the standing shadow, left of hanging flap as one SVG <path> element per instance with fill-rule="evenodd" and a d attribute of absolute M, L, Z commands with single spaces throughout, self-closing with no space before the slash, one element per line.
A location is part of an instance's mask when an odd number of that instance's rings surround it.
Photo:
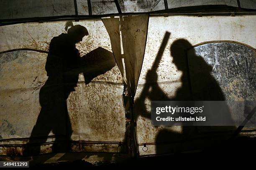
<path fill-rule="evenodd" d="M 0 43 L 1 145 L 28 142 L 41 110 L 39 92 L 47 80 L 46 52 L 49 50 L 51 39 L 65 32 L 65 24 L 66 22 L 28 23 L 0 27 L 2 40 Z M 89 35 L 77 44 L 81 57 L 99 47 L 105 50 L 105 54 L 106 52 L 112 54 L 108 32 L 101 20 L 73 24 L 82 25 L 89 32 Z M 12 51 L 15 49 L 23 50 Z M 31 49 L 45 52 L 31 51 Z M 94 57 L 97 62 L 100 56 Z M 102 67 L 97 63 L 92 65 L 96 71 L 98 67 Z M 122 76 L 117 65 L 105 74 L 95 77 L 87 85 L 84 83 L 83 75 L 79 75 L 77 87 L 67 99 L 67 110 L 72 126 L 71 140 L 85 141 L 84 143 L 93 141 L 97 147 L 92 149 L 90 144 L 80 143 L 78 150 L 81 150 L 81 146 L 87 151 L 117 152 L 118 146 L 120 149 L 120 143 L 122 144 L 125 138 L 125 112 L 121 83 Z M 54 121 L 56 123 L 54 126 L 65 127 L 64 115 L 55 116 L 55 120 L 51 118 L 53 117 L 49 117 L 49 123 Z M 47 142 L 53 141 L 56 135 L 66 134 L 65 130 L 60 132 L 61 134 L 51 132 Z M 38 135 L 42 137 L 40 132 Z M 108 144 L 104 145 L 102 141 Z M 77 150 L 76 144 L 73 150 Z M 0 155 L 4 155 L 4 152 L 5 150 L 1 149 Z M 15 152 L 14 154 L 20 154 L 22 149 Z M 42 149 L 42 153 L 45 152 L 49 150 Z"/>

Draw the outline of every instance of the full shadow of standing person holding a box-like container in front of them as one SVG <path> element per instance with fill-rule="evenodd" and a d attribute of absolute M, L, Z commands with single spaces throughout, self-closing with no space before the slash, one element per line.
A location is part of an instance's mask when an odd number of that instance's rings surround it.
<path fill-rule="evenodd" d="M 115 66 L 113 53 L 102 47 L 80 57 L 76 43 L 89 35 L 84 26 L 67 22 L 65 29 L 67 33 L 61 33 L 50 42 L 45 65 L 48 79 L 39 92 L 41 110 L 23 155 L 72 151 L 72 126 L 66 100 L 75 91 L 79 74 L 83 73 L 85 84 L 88 84 Z M 41 145 L 49 140 L 50 132 L 54 134 L 54 141 L 50 142 L 53 144 L 48 151 L 49 147 L 44 150 Z"/>

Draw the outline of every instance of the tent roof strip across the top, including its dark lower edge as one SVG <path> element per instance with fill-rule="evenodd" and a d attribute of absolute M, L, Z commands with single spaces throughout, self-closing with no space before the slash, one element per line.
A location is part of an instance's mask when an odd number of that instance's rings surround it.
<path fill-rule="evenodd" d="M 105 0 L 104 3 L 102 0 L 33 0 L 32 2 L 0 0 L 0 25 L 51 20 L 78 21 L 109 15 L 139 13 L 198 16 L 256 15 L 256 0 L 223 0 L 221 2 L 194 0 L 189 4 L 175 0 L 137 0 L 136 3 L 134 0 Z"/>

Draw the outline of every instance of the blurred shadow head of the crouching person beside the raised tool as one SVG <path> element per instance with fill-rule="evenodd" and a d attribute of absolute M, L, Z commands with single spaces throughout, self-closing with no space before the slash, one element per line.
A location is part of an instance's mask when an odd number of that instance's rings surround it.
<path fill-rule="evenodd" d="M 172 62 L 176 65 L 178 70 L 184 71 L 187 67 L 187 50 L 192 45 L 185 39 L 175 40 L 171 45 Z"/>

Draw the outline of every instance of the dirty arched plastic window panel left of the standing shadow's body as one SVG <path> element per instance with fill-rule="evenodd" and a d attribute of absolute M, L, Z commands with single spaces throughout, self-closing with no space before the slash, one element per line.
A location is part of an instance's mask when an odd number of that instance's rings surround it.
<path fill-rule="evenodd" d="M 34 51 L 14 51 L 0 55 L 2 139 L 30 137 L 41 110 L 39 93 L 47 80 L 44 68 L 46 57 L 46 53 Z M 38 136 L 42 135 L 38 133 Z"/>

